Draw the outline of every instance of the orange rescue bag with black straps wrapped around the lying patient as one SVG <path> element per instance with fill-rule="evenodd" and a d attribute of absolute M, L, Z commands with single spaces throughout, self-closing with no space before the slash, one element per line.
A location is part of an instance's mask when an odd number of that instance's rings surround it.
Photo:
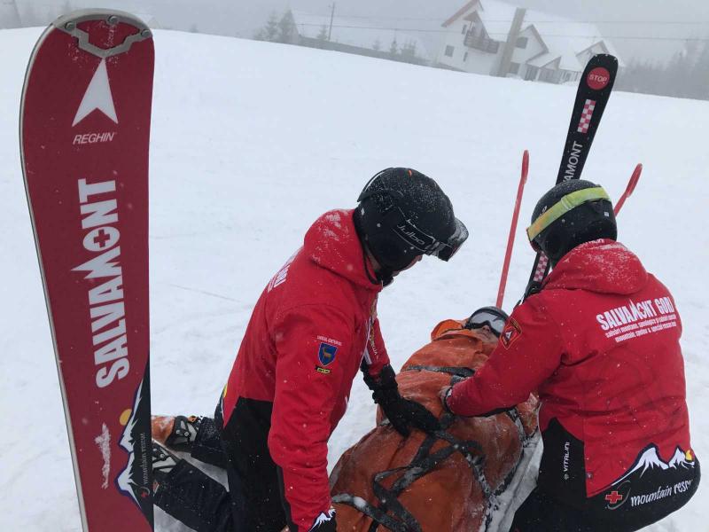
<path fill-rule="evenodd" d="M 485 364 L 495 337 L 446 320 L 432 341 L 414 353 L 397 376 L 401 395 L 425 405 L 441 421 L 435 436 L 401 436 L 382 424 L 347 450 L 332 470 L 331 495 L 338 529 L 448 532 L 478 530 L 491 496 L 502 491 L 537 427 L 537 398 L 510 411 L 460 418 L 444 411 L 440 389 Z"/>

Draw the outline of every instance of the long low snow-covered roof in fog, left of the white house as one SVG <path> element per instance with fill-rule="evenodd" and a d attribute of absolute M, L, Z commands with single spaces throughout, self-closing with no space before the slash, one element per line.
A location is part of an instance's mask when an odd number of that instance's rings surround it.
<path fill-rule="evenodd" d="M 330 15 L 316 15 L 307 12 L 293 11 L 292 16 L 298 33 L 303 37 L 316 39 L 323 27 L 330 28 Z M 381 50 L 389 50 L 393 40 L 399 45 L 399 50 L 405 44 L 415 44 L 417 56 L 429 59 L 425 44 L 417 36 L 410 35 L 388 27 L 376 27 L 371 21 L 362 23 L 362 19 L 339 17 L 337 13 L 332 20 L 331 42 L 342 43 L 357 48 L 371 50 L 375 42 L 381 44 Z"/>

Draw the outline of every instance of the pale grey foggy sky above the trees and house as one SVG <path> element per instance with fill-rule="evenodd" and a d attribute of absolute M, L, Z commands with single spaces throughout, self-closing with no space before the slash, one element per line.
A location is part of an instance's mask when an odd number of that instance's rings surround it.
<path fill-rule="evenodd" d="M 0 0 L 5 12 L 13 0 Z M 332 0 L 14 0 L 19 11 L 56 13 L 72 8 L 116 7 L 149 13 L 163 27 L 219 35 L 252 36 L 269 18 L 287 7 L 303 12 L 330 13 Z M 485 0 L 481 0 L 485 5 Z M 664 61 L 682 48 L 684 38 L 709 39 L 709 2 L 706 0 L 509 0 L 529 9 L 593 21 L 625 62 L 630 59 Z M 434 35 L 440 23 L 465 4 L 464 0 L 335 0 L 335 12 L 362 20 L 362 25 L 386 23 Z M 30 6 L 31 7 L 28 7 Z M 3 12 L 0 12 L 2 15 Z M 53 16 L 53 15 L 52 15 Z"/>

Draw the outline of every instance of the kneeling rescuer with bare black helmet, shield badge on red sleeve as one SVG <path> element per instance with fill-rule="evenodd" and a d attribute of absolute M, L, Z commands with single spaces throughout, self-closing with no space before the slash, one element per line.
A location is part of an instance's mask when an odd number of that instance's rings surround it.
<path fill-rule="evenodd" d="M 448 261 L 468 232 L 440 187 L 409 168 L 378 173 L 358 201 L 313 223 L 253 309 L 214 417 L 229 493 L 153 444 L 156 505 L 191 528 L 335 530 L 327 442 L 360 369 L 402 434 L 439 428 L 424 406 L 399 394 L 377 298 L 422 255 Z M 197 422 L 175 424 L 183 431 L 175 437 L 189 440 Z"/>

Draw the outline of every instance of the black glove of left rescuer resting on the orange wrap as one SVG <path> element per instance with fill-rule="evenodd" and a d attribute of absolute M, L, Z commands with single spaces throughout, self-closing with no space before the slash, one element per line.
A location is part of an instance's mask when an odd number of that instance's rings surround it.
<path fill-rule="evenodd" d="M 386 364 L 375 379 L 364 371 L 364 382 L 372 392 L 374 402 L 382 407 L 386 419 L 402 436 L 408 436 L 411 431 L 409 425 L 431 434 L 440 430 L 438 419 L 421 403 L 404 399 L 399 393 L 399 386 L 396 384 L 396 375 L 392 366 Z"/>

